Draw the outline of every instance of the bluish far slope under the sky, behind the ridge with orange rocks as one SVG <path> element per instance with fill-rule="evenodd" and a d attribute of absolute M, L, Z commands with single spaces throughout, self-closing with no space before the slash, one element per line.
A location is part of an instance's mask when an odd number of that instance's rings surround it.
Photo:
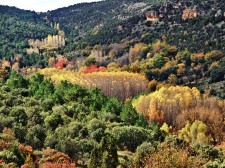
<path fill-rule="evenodd" d="M 158 1 L 164 2 L 165 0 Z M 89 35 L 99 28 L 127 20 L 140 14 L 154 0 L 107 0 L 95 3 L 82 3 L 67 8 L 60 8 L 47 13 L 52 22 L 60 23 L 65 32 L 77 39 Z"/>

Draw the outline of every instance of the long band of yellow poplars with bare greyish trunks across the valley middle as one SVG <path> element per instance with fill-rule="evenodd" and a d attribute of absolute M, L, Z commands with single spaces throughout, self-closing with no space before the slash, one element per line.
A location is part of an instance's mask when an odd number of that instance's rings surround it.
<path fill-rule="evenodd" d="M 97 69 L 93 66 L 91 69 Z M 98 68 L 101 69 L 101 68 Z M 67 80 L 70 83 L 84 86 L 85 88 L 100 88 L 106 96 L 116 96 L 126 100 L 145 93 L 148 81 L 145 76 L 129 72 L 92 72 L 76 73 L 69 70 L 45 68 L 40 70 L 45 77 L 51 78 L 56 83 Z"/>

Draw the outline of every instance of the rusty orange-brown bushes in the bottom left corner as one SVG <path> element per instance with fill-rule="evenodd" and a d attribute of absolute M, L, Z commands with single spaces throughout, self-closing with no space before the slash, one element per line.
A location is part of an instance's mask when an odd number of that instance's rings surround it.
<path fill-rule="evenodd" d="M 18 144 L 16 141 L 15 133 L 10 128 L 4 128 L 2 133 L 0 133 L 0 152 L 15 148 L 17 154 L 24 158 L 24 163 L 21 163 L 23 164 L 21 168 L 76 168 L 76 164 L 65 153 L 46 148 L 38 151 L 37 154 L 34 152 L 32 146 Z M 11 167 L 11 163 L 1 158 L 0 167 L 1 166 Z"/>

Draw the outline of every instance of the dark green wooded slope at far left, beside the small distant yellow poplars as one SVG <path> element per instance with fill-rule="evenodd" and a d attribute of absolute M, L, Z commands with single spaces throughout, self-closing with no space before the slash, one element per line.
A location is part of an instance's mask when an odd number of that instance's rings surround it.
<path fill-rule="evenodd" d="M 0 5 L 0 58 L 24 53 L 28 39 L 49 33 L 55 30 L 37 13 Z"/>

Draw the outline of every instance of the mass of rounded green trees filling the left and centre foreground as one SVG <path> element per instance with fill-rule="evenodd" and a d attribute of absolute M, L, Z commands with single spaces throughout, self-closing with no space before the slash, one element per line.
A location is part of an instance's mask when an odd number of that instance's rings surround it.
<path fill-rule="evenodd" d="M 34 149 L 51 147 L 86 166 L 92 157 L 90 151 L 100 144 L 96 150 L 101 153 L 101 157 L 97 157 L 101 158 L 101 166 L 116 167 L 115 143 L 118 141 L 106 132 L 125 129 L 127 135 L 122 132 L 120 137 L 134 138 L 133 143 L 126 144 L 132 151 L 146 139 L 151 139 L 149 130 L 145 129 L 147 122 L 130 103 L 106 97 L 99 89 L 87 90 L 66 81 L 54 86 L 40 73 L 30 78 L 28 89 L 5 89 L 5 86 L 3 81 L 0 87 L 3 93 L 0 95 L 0 104 L 3 105 L 0 107 L 0 129 L 11 128 L 18 142 Z M 132 129 L 123 125 L 130 125 Z M 120 147 L 127 148 L 122 144 Z"/>

